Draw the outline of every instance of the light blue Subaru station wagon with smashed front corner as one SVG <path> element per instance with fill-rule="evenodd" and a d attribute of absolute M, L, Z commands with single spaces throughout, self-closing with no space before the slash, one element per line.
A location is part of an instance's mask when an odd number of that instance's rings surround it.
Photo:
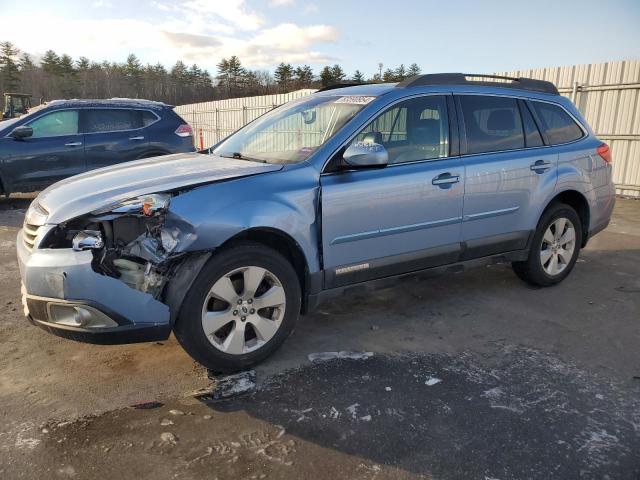
<path fill-rule="evenodd" d="M 499 261 L 556 284 L 614 202 L 609 147 L 549 82 L 328 88 L 208 154 L 44 190 L 18 238 L 25 314 L 93 343 L 173 331 L 198 362 L 234 371 L 354 287 Z"/>

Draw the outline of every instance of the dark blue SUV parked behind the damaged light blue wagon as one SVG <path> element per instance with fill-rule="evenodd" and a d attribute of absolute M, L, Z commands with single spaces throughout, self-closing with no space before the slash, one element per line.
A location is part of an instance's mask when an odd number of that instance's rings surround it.
<path fill-rule="evenodd" d="M 191 127 L 170 105 L 54 100 L 0 122 L 0 192 L 40 190 L 95 168 L 194 150 Z"/>

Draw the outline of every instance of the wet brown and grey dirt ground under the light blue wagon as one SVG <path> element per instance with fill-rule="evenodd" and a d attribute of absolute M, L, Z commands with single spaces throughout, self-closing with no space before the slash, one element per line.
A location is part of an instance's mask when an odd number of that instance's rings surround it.
<path fill-rule="evenodd" d="M 338 298 L 218 401 L 173 338 L 92 346 L 24 320 L 29 201 L 0 200 L 0 478 L 640 478 L 640 201 L 562 285 L 500 265 Z M 307 358 L 341 350 L 374 355 Z"/>

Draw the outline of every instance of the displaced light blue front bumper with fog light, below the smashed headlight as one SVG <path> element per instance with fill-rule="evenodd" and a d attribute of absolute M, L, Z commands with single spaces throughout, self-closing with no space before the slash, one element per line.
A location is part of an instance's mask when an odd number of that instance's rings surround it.
<path fill-rule="evenodd" d="M 44 236 L 44 232 L 41 234 Z M 91 251 L 31 250 L 23 241 L 22 230 L 16 244 L 23 305 L 32 323 L 56 335 L 89 343 L 168 338 L 169 307 L 150 293 L 94 271 Z"/>

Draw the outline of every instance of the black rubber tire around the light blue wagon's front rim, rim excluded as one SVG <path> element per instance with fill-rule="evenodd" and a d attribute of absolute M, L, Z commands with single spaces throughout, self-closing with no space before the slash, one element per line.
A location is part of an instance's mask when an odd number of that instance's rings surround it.
<path fill-rule="evenodd" d="M 235 269 L 248 266 L 264 268 L 277 277 L 285 293 L 285 311 L 278 330 L 270 340 L 251 352 L 228 354 L 216 348 L 206 336 L 202 309 L 216 281 Z M 300 282 L 289 261 L 262 244 L 243 242 L 217 252 L 203 267 L 184 299 L 174 333 L 180 345 L 198 363 L 216 373 L 236 372 L 264 360 L 282 345 L 293 332 L 300 305 Z"/>

